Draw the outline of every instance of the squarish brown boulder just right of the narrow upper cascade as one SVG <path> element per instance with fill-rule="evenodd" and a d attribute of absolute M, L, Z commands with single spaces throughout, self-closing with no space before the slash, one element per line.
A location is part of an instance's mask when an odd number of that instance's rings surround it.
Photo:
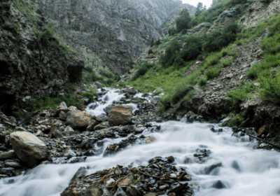
<path fill-rule="evenodd" d="M 112 126 L 132 123 L 132 106 L 114 106 L 109 112 L 108 121 Z"/>

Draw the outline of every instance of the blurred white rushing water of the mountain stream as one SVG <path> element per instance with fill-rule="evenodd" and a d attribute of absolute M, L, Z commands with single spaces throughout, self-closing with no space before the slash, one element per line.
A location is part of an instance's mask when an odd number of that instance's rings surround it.
<path fill-rule="evenodd" d="M 103 108 L 113 101 L 120 100 L 122 94 L 111 90 L 106 98 L 107 104 L 100 105 L 94 111 L 87 112 L 98 115 Z M 139 96 L 139 95 L 137 95 Z M 105 99 L 106 94 L 102 99 Z M 102 155 L 88 157 L 86 162 L 64 165 L 39 165 L 24 176 L 16 176 L 0 181 L 1 196 L 59 196 L 69 185 L 70 179 L 79 167 L 88 167 L 88 174 L 95 171 L 116 167 L 116 165 L 148 165 L 148 160 L 155 156 L 174 156 L 177 167 L 186 167 L 192 177 L 195 195 L 203 196 L 272 196 L 280 194 L 280 154 L 276 151 L 253 150 L 253 143 L 248 139 L 241 142 L 237 137 L 231 137 L 229 128 L 221 133 L 209 130 L 207 123 L 180 123 L 168 121 L 157 123 L 161 125 L 160 132 L 144 131 L 144 135 L 157 138 L 153 144 L 130 146 L 113 157 L 102 158 Z M 216 125 L 215 125 L 216 126 Z M 120 141 L 108 139 L 104 150 L 109 144 Z M 193 157 L 196 149 L 211 151 L 209 160 L 204 163 L 193 162 L 184 164 L 186 157 Z M 103 153 L 102 153 L 103 154 Z M 216 172 L 204 174 L 204 168 L 222 162 L 222 167 Z M 232 163 L 238 167 L 232 167 Z M 237 163 L 237 164 L 236 164 Z M 237 168 L 237 169 L 236 169 Z M 13 183 L 9 183 L 10 181 Z M 213 183 L 222 181 L 225 188 L 213 188 Z"/>

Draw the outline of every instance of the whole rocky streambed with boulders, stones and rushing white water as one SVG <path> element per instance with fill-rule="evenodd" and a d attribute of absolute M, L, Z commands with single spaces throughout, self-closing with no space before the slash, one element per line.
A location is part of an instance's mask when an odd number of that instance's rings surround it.
<path fill-rule="evenodd" d="M 256 135 L 253 128 L 231 137 L 231 129 L 221 127 L 226 120 L 198 123 L 206 120 L 189 113 L 162 122 L 151 94 L 128 86 L 99 92 L 85 111 L 62 102 L 55 111 L 32 113 L 25 125 L 1 114 L 1 195 L 227 194 L 238 191 L 235 184 L 246 181 L 242 175 L 251 165 L 279 170 L 272 163 L 277 149 L 246 136 Z M 17 131 L 10 134 L 11 127 Z M 254 162 L 260 156 L 273 161 Z M 257 170 L 250 171 L 255 178 L 262 175 Z M 239 181 L 231 182 L 228 172 Z"/>

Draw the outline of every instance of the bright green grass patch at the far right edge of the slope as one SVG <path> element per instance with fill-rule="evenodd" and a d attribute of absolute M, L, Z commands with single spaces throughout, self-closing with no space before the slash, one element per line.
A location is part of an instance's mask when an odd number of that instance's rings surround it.
<path fill-rule="evenodd" d="M 276 14 L 254 28 L 241 31 L 237 37 L 239 40 L 252 40 L 265 34 L 266 29 L 269 33 L 261 41 L 264 60 L 253 64 L 246 73 L 249 78 L 257 80 L 260 87 L 255 87 L 253 83 L 241 84 L 240 87 L 228 93 L 228 97 L 232 98 L 234 104 L 253 97 L 253 92 L 261 99 L 280 104 L 280 15 Z"/>

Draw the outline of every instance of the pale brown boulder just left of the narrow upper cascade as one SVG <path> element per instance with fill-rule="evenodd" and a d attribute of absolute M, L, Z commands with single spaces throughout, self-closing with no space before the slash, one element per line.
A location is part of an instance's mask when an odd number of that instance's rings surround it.
<path fill-rule="evenodd" d="M 66 125 L 70 125 L 73 129 L 86 129 L 92 116 L 84 111 L 70 111 L 67 113 Z"/>

